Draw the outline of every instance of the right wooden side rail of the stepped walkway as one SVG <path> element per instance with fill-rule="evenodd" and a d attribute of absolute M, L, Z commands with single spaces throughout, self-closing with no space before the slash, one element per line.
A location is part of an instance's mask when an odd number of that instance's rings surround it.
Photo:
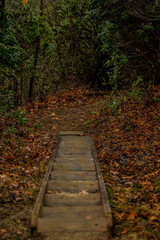
<path fill-rule="evenodd" d="M 103 178 L 102 171 L 101 171 L 100 164 L 99 164 L 99 160 L 98 160 L 98 157 L 97 157 L 97 150 L 95 148 L 92 136 L 90 135 L 88 137 L 89 137 L 89 142 L 90 142 L 90 145 L 91 145 L 91 150 L 92 150 L 92 153 L 93 153 L 93 157 L 94 157 L 94 160 L 95 160 L 97 177 L 98 177 L 99 187 L 100 187 L 101 196 L 102 196 L 104 213 L 105 213 L 105 216 L 107 218 L 108 226 L 112 227 L 112 211 L 111 211 L 111 207 L 110 207 L 110 204 L 109 204 L 108 195 L 107 195 L 107 192 L 106 192 L 104 178 Z"/>

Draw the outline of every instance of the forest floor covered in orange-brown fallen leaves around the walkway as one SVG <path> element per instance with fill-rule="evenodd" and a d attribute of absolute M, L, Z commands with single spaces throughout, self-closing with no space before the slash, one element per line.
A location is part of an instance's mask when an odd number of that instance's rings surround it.
<path fill-rule="evenodd" d="M 111 240 L 160 239 L 160 91 L 142 100 L 61 91 L 0 116 L 0 239 L 30 235 L 30 219 L 59 130 L 92 134 L 113 211 Z"/>

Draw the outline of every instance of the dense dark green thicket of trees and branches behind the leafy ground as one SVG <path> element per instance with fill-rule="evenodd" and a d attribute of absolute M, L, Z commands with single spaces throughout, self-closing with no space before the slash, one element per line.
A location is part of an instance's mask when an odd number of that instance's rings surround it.
<path fill-rule="evenodd" d="M 65 81 L 121 88 L 160 82 L 159 0 L 0 1 L 0 103 Z"/>

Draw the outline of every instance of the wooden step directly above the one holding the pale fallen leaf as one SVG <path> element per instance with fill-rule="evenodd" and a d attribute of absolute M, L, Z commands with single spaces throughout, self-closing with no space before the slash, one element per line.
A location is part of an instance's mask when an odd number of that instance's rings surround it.
<path fill-rule="evenodd" d="M 97 180 L 96 171 L 53 171 L 51 180 L 64 181 L 94 181 Z"/>

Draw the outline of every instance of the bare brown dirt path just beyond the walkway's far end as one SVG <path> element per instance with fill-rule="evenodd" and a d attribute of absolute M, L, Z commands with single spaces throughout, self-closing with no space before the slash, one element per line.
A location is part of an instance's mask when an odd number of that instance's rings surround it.
<path fill-rule="evenodd" d="M 76 94 L 76 92 L 75 92 Z M 47 116 L 40 118 L 43 131 L 86 130 L 87 121 L 97 111 L 101 97 L 68 97 L 62 95 L 63 101 L 48 103 Z"/>

